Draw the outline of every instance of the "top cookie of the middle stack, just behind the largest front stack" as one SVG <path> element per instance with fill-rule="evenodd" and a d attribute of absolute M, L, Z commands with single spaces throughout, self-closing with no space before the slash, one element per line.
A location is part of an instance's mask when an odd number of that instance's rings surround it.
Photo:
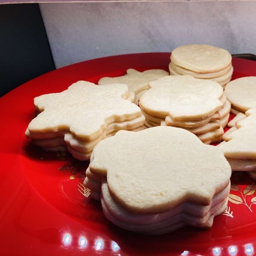
<path fill-rule="evenodd" d="M 165 76 L 148 85 L 151 89 L 140 98 L 140 107 L 154 116 L 202 119 L 223 108 L 219 100 L 223 89 L 213 81 L 192 76 Z"/>

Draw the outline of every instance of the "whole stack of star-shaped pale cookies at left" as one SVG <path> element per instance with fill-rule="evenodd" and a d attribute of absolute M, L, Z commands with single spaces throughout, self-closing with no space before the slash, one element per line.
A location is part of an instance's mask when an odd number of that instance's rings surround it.
<path fill-rule="evenodd" d="M 119 130 L 144 129 L 145 117 L 133 104 L 126 84 L 99 86 L 78 81 L 61 93 L 34 99 L 39 114 L 26 137 L 46 151 L 70 151 L 88 160 L 93 148 Z"/>

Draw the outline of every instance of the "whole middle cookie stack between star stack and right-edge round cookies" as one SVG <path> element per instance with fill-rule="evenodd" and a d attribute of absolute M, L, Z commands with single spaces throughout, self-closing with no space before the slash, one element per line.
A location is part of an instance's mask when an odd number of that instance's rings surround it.
<path fill-rule="evenodd" d="M 145 126 L 174 126 L 186 129 L 205 144 L 221 141 L 227 125 L 230 102 L 222 87 L 192 76 L 165 76 L 149 83 L 140 98 Z"/>

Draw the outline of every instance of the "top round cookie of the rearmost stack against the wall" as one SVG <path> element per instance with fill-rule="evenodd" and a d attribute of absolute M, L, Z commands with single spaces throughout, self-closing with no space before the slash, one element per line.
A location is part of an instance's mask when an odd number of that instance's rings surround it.
<path fill-rule="evenodd" d="M 224 49 L 205 44 L 190 44 L 172 51 L 171 61 L 197 73 L 213 73 L 231 64 L 231 54 Z"/>

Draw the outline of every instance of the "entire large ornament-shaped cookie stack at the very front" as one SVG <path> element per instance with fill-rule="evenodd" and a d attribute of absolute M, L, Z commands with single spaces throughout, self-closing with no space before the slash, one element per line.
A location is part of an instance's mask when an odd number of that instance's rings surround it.
<path fill-rule="evenodd" d="M 184 129 L 155 127 L 100 142 L 86 175 L 109 221 L 159 235 L 211 227 L 227 207 L 231 169 L 220 148 Z"/>

